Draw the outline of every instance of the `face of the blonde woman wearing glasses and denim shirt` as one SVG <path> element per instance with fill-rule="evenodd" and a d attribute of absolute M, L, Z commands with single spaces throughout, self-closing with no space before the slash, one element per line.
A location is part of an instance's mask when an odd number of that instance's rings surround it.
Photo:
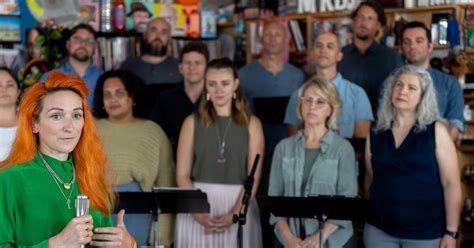
<path fill-rule="evenodd" d="M 308 87 L 301 96 L 301 117 L 305 126 L 326 125 L 331 115 L 331 106 L 321 97 L 321 92 L 315 87 Z"/>

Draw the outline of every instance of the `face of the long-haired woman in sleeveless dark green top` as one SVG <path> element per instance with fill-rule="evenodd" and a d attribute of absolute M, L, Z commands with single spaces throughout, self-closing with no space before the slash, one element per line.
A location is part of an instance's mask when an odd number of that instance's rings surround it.
<path fill-rule="evenodd" d="M 239 79 L 234 78 L 230 68 L 209 69 L 206 73 L 206 90 L 214 106 L 230 106 L 238 86 Z"/>

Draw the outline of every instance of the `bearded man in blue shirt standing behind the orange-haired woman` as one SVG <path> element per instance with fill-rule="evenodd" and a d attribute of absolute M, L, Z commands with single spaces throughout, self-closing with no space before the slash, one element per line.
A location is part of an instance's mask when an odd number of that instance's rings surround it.
<path fill-rule="evenodd" d="M 71 29 L 71 37 L 66 43 L 68 57 L 63 65 L 57 70 L 66 74 L 74 74 L 81 77 L 87 83 L 89 95 L 87 101 L 92 106 L 94 96 L 93 92 L 97 79 L 102 71 L 92 65 L 92 56 L 94 55 L 96 45 L 96 32 L 88 24 L 81 23 Z M 40 82 L 44 82 L 49 73 L 43 74 Z"/>

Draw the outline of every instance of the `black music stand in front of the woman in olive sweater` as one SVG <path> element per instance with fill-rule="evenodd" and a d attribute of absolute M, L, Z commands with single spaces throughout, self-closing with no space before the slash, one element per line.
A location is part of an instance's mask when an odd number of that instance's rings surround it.
<path fill-rule="evenodd" d="M 150 213 L 155 227 L 154 247 L 158 248 L 159 214 L 209 213 L 207 194 L 199 189 L 153 188 L 153 192 L 118 192 L 117 210 L 128 213 Z"/>

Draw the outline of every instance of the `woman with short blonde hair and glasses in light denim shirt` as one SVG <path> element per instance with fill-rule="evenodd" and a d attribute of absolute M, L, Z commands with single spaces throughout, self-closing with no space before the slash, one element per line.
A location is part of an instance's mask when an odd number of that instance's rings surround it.
<path fill-rule="evenodd" d="M 270 196 L 357 194 L 357 167 L 351 144 L 337 134 L 341 100 L 334 85 L 315 77 L 301 86 L 298 117 L 304 129 L 275 148 L 270 173 Z M 320 247 L 318 221 L 279 218 L 275 247 Z M 322 232 L 325 247 L 352 247 L 352 223 L 328 220 Z"/>

